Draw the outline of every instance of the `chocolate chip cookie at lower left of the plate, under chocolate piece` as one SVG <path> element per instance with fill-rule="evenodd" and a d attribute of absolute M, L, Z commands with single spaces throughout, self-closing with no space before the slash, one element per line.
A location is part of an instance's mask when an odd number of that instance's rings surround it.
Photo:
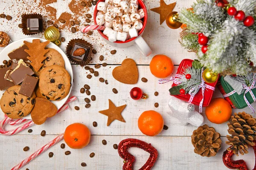
<path fill-rule="evenodd" d="M 35 92 L 31 97 L 27 97 L 19 94 L 19 91 L 20 85 L 12 86 L 4 92 L 0 100 L 3 113 L 12 119 L 27 116 L 35 105 Z"/>

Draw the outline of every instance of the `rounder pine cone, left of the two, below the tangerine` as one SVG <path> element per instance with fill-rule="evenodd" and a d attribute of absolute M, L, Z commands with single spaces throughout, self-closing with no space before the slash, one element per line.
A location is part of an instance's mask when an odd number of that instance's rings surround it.
<path fill-rule="evenodd" d="M 208 125 L 200 126 L 191 136 L 194 152 L 201 156 L 215 156 L 221 149 L 221 135 Z"/>

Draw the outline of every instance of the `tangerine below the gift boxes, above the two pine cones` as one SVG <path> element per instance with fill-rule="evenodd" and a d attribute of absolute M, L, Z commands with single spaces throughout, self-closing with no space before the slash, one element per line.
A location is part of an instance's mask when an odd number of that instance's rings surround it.
<path fill-rule="evenodd" d="M 205 108 L 207 119 L 216 124 L 227 122 L 232 114 L 232 108 L 223 98 L 212 99 L 209 106 Z"/>

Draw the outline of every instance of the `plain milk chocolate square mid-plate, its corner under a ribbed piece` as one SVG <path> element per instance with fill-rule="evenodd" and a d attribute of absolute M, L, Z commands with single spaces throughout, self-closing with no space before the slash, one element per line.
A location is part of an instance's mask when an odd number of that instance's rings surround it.
<path fill-rule="evenodd" d="M 26 74 L 28 74 L 29 76 L 32 76 L 34 74 L 34 72 L 31 70 L 31 68 L 23 65 L 23 64 L 19 64 L 14 71 L 12 71 L 12 73 L 10 74 L 10 78 L 12 79 L 12 81 L 14 82 L 15 85 L 20 84 L 21 82 L 23 82 L 23 80 L 26 77 Z"/>

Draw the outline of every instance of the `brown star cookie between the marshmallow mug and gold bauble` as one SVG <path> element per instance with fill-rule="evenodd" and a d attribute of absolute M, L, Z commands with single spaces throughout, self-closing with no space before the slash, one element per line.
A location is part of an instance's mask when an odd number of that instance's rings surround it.
<path fill-rule="evenodd" d="M 152 8 L 150 10 L 160 14 L 160 25 L 162 25 L 162 23 L 166 20 L 167 15 L 170 12 L 172 12 L 175 5 L 176 3 L 171 3 L 169 5 L 166 5 L 166 3 L 163 0 L 160 0 L 160 7 Z"/>

